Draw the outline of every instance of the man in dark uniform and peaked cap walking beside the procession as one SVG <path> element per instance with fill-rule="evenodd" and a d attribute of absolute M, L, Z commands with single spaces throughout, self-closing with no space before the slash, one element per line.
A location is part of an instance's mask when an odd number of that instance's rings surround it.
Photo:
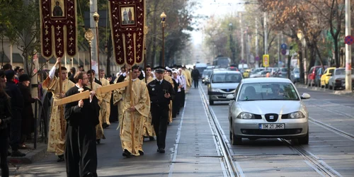
<path fill-rule="evenodd" d="M 156 133 L 157 152 L 165 153 L 169 104 L 175 93 L 172 85 L 164 79 L 165 69 L 156 67 L 156 79 L 147 84 L 151 101 L 152 124 Z"/>

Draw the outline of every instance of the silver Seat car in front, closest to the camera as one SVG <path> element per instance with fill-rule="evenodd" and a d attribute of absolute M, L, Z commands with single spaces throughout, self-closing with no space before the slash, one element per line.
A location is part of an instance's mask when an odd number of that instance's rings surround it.
<path fill-rule="evenodd" d="M 309 113 L 292 81 L 282 78 L 243 79 L 235 93 L 228 95 L 230 139 L 298 139 L 309 143 Z"/>

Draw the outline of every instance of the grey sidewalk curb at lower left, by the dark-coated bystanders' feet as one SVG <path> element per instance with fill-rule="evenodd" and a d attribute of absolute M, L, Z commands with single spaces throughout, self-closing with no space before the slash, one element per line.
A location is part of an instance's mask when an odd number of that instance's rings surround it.
<path fill-rule="evenodd" d="M 30 149 L 23 157 L 8 156 L 11 164 L 32 164 L 47 155 L 47 144 L 38 144 L 37 149 Z"/>

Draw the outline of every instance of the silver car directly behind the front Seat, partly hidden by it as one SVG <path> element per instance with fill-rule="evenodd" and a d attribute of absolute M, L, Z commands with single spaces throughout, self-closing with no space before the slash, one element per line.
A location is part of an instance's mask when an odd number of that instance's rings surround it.
<path fill-rule="evenodd" d="M 210 76 L 207 94 L 209 95 L 209 104 L 214 101 L 229 101 L 228 94 L 233 94 L 237 85 L 241 82 L 241 72 L 229 70 L 214 70 Z"/>

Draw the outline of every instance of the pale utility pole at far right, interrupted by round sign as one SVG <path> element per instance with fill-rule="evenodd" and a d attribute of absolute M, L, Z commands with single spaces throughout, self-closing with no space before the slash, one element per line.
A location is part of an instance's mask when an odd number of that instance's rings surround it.
<path fill-rule="evenodd" d="M 346 0 L 346 36 L 350 35 L 350 0 Z M 346 45 L 346 91 L 352 91 L 351 46 Z"/>

